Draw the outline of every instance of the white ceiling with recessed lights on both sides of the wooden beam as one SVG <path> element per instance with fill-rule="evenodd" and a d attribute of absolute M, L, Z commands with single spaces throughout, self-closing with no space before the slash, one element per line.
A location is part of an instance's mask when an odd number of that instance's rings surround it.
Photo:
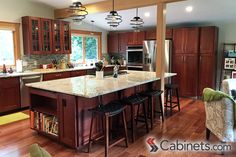
<path fill-rule="evenodd" d="M 55 8 L 68 7 L 72 0 L 36 0 L 51 5 Z M 102 0 L 81 0 L 82 4 L 95 3 Z M 193 11 L 187 13 L 186 6 L 193 6 Z M 145 12 L 150 12 L 150 17 L 144 16 Z M 156 6 L 144 7 L 139 9 L 139 15 L 144 19 L 144 27 L 156 25 Z M 122 16 L 123 22 L 117 30 L 131 29 L 129 23 L 135 15 L 135 9 L 118 11 Z M 95 21 L 95 25 L 110 30 L 105 17 L 108 13 L 89 14 L 85 22 Z M 236 0 L 187 0 L 167 5 L 166 21 L 169 25 L 181 23 L 210 23 L 236 21 Z"/>

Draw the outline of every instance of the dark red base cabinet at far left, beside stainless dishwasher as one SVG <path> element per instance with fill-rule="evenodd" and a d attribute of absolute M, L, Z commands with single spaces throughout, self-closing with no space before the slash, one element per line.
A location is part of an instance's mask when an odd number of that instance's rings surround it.
<path fill-rule="evenodd" d="M 20 108 L 19 78 L 0 78 L 0 112 L 18 108 Z"/>

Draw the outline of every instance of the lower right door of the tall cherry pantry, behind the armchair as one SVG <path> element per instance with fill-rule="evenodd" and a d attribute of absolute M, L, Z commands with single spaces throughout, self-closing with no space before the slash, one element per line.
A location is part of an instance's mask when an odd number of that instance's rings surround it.
<path fill-rule="evenodd" d="M 216 57 L 209 54 L 201 54 L 199 57 L 199 81 L 198 96 L 202 96 L 204 88 L 215 88 L 216 85 Z"/>

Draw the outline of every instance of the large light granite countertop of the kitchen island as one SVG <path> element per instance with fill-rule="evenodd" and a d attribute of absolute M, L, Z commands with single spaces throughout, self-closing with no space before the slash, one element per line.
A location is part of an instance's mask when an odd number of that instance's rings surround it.
<path fill-rule="evenodd" d="M 155 72 L 131 70 L 127 70 L 127 72 L 128 74 L 119 75 L 118 78 L 109 76 L 104 77 L 103 79 L 96 79 L 95 76 L 86 75 L 31 83 L 26 86 L 74 96 L 93 98 L 160 79 L 156 77 Z M 165 78 L 175 75 L 175 73 L 166 73 Z"/>

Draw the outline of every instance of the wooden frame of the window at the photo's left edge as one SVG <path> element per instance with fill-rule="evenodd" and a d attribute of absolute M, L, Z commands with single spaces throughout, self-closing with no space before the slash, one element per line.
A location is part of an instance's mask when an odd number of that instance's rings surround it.
<path fill-rule="evenodd" d="M 20 58 L 20 23 L 0 21 L 0 29 L 11 30 L 13 32 L 14 65 L 7 65 L 7 66 L 15 66 L 16 60 Z M 2 66 L 3 65 L 0 65 L 0 68 L 2 68 Z"/>

